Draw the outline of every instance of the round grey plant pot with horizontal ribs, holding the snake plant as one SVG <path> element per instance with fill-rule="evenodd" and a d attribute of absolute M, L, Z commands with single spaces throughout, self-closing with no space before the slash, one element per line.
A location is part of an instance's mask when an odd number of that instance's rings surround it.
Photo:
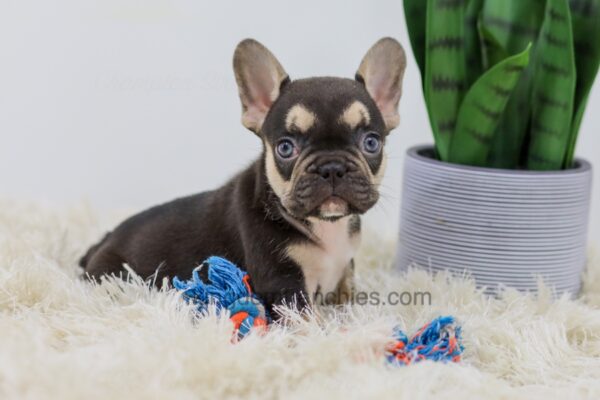
<path fill-rule="evenodd" d="M 592 167 L 538 172 L 449 164 L 408 150 L 398 267 L 418 265 L 501 286 L 576 294 L 586 264 Z"/>

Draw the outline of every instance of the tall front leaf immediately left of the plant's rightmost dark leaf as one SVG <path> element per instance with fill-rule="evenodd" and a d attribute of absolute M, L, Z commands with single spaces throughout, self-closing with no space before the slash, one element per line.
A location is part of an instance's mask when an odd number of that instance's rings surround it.
<path fill-rule="evenodd" d="M 548 0 L 534 70 L 527 168 L 558 170 L 567 154 L 575 98 L 575 54 L 568 0 Z"/>

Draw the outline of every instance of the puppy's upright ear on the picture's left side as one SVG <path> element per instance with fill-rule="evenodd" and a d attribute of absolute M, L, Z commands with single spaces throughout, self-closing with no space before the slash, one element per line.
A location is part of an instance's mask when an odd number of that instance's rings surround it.
<path fill-rule="evenodd" d="M 242 101 L 242 124 L 258 133 L 289 77 L 275 56 L 254 39 L 237 45 L 233 69 Z"/>

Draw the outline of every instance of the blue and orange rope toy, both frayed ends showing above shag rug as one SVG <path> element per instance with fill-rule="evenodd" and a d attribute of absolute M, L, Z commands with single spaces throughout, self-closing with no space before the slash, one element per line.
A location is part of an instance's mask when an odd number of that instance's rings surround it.
<path fill-rule="evenodd" d="M 200 269 L 208 268 L 208 281 L 200 278 Z M 173 279 L 173 286 L 183 298 L 206 312 L 214 304 L 217 312 L 228 311 L 234 326 L 234 341 L 244 338 L 252 329 L 265 330 L 271 319 L 260 298 L 253 293 L 250 277 L 235 264 L 221 257 L 209 257 L 187 281 Z M 453 317 L 434 319 L 410 339 L 400 329 L 393 332 L 393 344 L 386 349 L 392 365 L 409 365 L 423 360 L 458 362 L 464 347 L 461 328 Z"/>

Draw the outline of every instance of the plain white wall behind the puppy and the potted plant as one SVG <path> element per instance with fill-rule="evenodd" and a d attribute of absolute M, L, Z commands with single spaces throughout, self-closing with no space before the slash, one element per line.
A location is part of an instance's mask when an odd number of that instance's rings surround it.
<path fill-rule="evenodd" d="M 401 0 L 2 0 L 0 196 L 142 209 L 218 186 L 260 148 L 239 123 L 239 40 L 262 41 L 292 78 L 352 77 L 386 35 L 410 65 L 384 198 L 368 223 L 393 232 L 403 153 L 432 141 Z M 600 168 L 599 111 L 596 83 L 579 155 Z M 591 225 L 600 238 L 599 205 Z"/>

